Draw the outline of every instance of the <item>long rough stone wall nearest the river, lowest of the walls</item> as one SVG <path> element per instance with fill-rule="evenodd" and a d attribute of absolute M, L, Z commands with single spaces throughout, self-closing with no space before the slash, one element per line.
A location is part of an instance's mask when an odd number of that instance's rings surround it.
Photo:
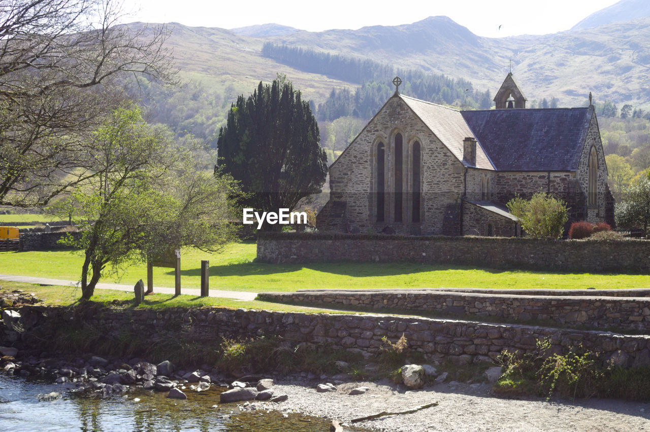
<path fill-rule="evenodd" d="M 549 338 L 554 352 L 582 345 L 601 353 L 603 361 L 622 366 L 650 365 L 650 336 L 617 335 L 601 331 L 557 330 L 534 326 L 484 324 L 390 315 L 333 315 L 283 313 L 244 309 L 203 307 L 200 309 L 116 310 L 98 307 L 23 306 L 19 327 L 24 333 L 9 332 L 3 344 L 20 344 L 25 349 L 47 350 L 47 341 L 59 328 L 90 326 L 105 337 L 119 339 L 137 335 L 151 343 L 165 337 L 183 341 L 218 343 L 221 337 L 274 335 L 287 346 L 308 342 L 343 348 L 370 357 L 380 352 L 382 338 L 397 341 L 402 334 L 412 350 L 425 357 L 448 356 L 456 363 L 490 361 L 503 350 L 528 352 L 538 339 Z M 39 339 L 40 338 L 40 339 Z M 32 343 L 33 341 L 40 341 Z"/>

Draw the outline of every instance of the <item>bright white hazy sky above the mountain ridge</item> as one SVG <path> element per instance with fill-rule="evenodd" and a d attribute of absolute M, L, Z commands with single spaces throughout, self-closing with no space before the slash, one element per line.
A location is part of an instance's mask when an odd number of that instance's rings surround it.
<path fill-rule="evenodd" d="M 233 29 L 278 23 L 297 29 L 359 29 L 400 25 L 446 15 L 474 34 L 499 38 L 568 30 L 618 0 L 135 0 L 129 21 L 179 22 L 192 27 Z M 138 10 L 139 8 L 139 10 Z M 499 30 L 499 25 L 501 29 Z"/>

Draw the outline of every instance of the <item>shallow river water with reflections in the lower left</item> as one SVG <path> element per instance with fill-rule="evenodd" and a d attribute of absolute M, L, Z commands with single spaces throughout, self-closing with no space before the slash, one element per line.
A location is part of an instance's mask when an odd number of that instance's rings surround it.
<path fill-rule="evenodd" d="M 331 420 L 302 414 L 292 413 L 285 417 L 277 411 L 240 413 L 235 403 L 213 408 L 222 391 L 216 386 L 200 393 L 183 391 L 187 400 L 168 399 L 164 392 L 142 389 L 100 399 L 66 393 L 61 385 L 0 374 L 0 431 L 330 430 Z M 63 396 L 57 400 L 39 400 L 39 395 L 49 392 L 60 392 Z"/>

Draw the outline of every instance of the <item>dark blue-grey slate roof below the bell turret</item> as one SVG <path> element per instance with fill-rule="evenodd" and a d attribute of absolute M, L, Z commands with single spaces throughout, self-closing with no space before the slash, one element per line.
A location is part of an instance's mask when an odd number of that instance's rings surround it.
<path fill-rule="evenodd" d="M 498 171 L 575 171 L 593 108 L 460 113 Z"/>

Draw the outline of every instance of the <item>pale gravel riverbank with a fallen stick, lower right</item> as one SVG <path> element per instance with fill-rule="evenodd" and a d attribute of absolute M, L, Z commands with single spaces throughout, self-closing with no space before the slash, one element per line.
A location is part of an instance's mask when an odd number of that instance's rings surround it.
<path fill-rule="evenodd" d="M 355 387 L 369 387 L 349 396 Z M 650 403 L 621 400 L 545 402 L 542 398 L 503 399 L 491 395 L 487 384 L 445 383 L 406 390 L 390 381 L 345 383 L 337 392 L 318 393 L 312 387 L 279 383 L 276 392 L 289 395 L 280 411 L 337 419 L 406 411 L 431 402 L 439 405 L 412 414 L 367 420 L 354 426 L 376 431 L 650 431 Z M 276 405 L 277 406 L 277 405 Z"/>

